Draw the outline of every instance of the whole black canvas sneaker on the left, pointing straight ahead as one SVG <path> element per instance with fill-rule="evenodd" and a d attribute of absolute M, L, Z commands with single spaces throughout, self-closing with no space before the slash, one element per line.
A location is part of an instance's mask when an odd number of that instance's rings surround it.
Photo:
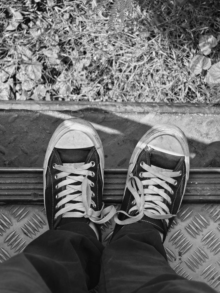
<path fill-rule="evenodd" d="M 116 209 L 102 202 L 104 152 L 86 120 L 63 121 L 50 139 L 43 165 L 44 205 L 50 229 L 70 222 L 102 224 Z M 101 229 L 98 238 L 101 241 Z"/>

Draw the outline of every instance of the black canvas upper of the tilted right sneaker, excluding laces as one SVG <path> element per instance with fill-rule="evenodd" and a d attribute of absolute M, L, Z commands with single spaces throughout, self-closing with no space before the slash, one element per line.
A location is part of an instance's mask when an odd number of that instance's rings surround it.
<path fill-rule="evenodd" d="M 138 177 L 140 180 L 143 180 L 143 178 L 140 178 L 140 173 L 144 172 L 144 169 L 140 166 L 141 161 L 145 162 L 148 166 L 153 166 L 160 167 L 163 169 L 170 169 L 173 171 L 182 171 L 181 176 L 175 177 L 175 180 L 177 180 L 177 185 L 172 185 L 168 182 L 167 185 L 169 185 L 172 190 L 173 190 L 173 195 L 165 190 L 165 193 L 169 195 L 171 198 L 172 204 L 170 205 L 167 200 L 163 200 L 163 202 L 167 205 L 167 207 L 170 210 L 170 214 L 176 214 L 179 207 L 180 207 L 180 202 L 183 196 L 183 191 L 185 187 L 185 180 L 186 180 L 186 165 L 185 165 L 185 156 L 175 156 L 171 154 L 166 154 L 161 151 L 157 151 L 152 148 L 148 148 L 146 146 L 141 153 L 138 156 L 138 159 L 134 165 L 134 168 L 131 173 L 133 173 L 133 176 Z M 144 180 L 147 180 L 149 178 L 144 178 Z M 155 187 L 159 189 L 163 189 L 160 185 L 155 185 Z M 144 185 L 143 188 L 148 188 L 148 185 Z M 131 209 L 132 201 L 134 200 L 134 197 L 132 193 L 126 188 L 125 195 L 123 197 L 123 202 L 121 204 L 121 210 L 125 211 L 128 213 L 128 211 Z M 131 212 L 131 216 L 134 216 L 136 214 L 136 210 Z M 128 219 L 128 217 L 125 214 L 119 213 L 118 214 L 118 219 L 119 220 L 125 220 Z M 150 224 L 153 224 L 153 226 L 158 229 L 158 231 L 162 232 L 164 235 L 163 242 L 165 241 L 165 237 L 167 234 L 167 231 L 170 228 L 170 225 L 173 222 L 174 217 L 169 219 L 169 225 L 167 226 L 165 220 L 160 220 L 160 219 L 152 219 L 150 217 L 147 217 L 146 215 L 143 216 L 143 218 L 138 221 L 138 222 L 147 222 Z M 114 228 L 114 232 L 112 235 L 112 238 L 114 235 L 123 227 L 123 225 L 116 224 Z M 111 238 L 111 239 L 112 239 Z"/>

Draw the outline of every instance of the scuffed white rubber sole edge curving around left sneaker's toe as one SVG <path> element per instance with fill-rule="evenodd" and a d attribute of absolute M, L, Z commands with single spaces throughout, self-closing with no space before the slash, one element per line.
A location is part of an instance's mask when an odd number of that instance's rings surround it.
<path fill-rule="evenodd" d="M 55 130 L 55 132 L 53 133 L 48 147 L 47 147 L 47 151 L 45 154 L 45 159 L 44 159 L 44 163 L 43 163 L 43 197 L 44 197 L 44 207 L 45 207 L 45 187 L 46 187 L 46 171 L 47 171 L 47 166 L 48 166 L 48 161 L 50 158 L 50 155 L 53 151 L 53 148 L 55 147 L 55 145 L 57 144 L 57 142 L 60 140 L 60 138 L 66 134 L 69 131 L 72 130 L 78 130 L 81 131 L 83 133 L 85 133 L 94 143 L 94 146 L 97 149 L 97 152 L 99 154 L 99 158 L 100 158 L 100 168 L 101 168 L 101 175 L 102 175 L 102 180 L 104 183 L 104 167 L 105 167 L 105 163 L 104 163 L 104 151 L 103 151 L 103 147 L 102 147 L 102 143 L 101 143 L 101 139 L 99 138 L 99 135 L 97 133 L 97 131 L 95 130 L 95 128 L 92 126 L 91 123 L 89 123 L 88 121 L 84 120 L 84 119 L 80 119 L 80 118 L 70 118 L 67 120 L 64 120 Z M 103 191 L 103 187 L 102 186 L 102 191 Z M 46 210 L 46 207 L 45 207 Z"/>

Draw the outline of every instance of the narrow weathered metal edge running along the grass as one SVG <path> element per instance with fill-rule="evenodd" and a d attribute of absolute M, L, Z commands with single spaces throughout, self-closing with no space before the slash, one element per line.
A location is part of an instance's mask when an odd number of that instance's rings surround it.
<path fill-rule="evenodd" d="M 138 113 L 220 113 L 215 104 L 190 103 L 132 103 L 132 102 L 88 102 L 88 101 L 17 101 L 0 100 L 0 109 L 17 110 L 71 110 L 95 112 L 138 112 Z"/>

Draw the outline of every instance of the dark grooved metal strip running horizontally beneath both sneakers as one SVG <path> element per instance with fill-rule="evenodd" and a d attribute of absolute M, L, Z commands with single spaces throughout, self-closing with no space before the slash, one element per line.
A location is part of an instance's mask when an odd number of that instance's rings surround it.
<path fill-rule="evenodd" d="M 103 202 L 121 203 L 128 169 L 105 169 Z M 220 168 L 190 168 L 183 202 L 220 202 Z M 0 168 L 0 202 L 43 203 L 42 168 Z"/>

